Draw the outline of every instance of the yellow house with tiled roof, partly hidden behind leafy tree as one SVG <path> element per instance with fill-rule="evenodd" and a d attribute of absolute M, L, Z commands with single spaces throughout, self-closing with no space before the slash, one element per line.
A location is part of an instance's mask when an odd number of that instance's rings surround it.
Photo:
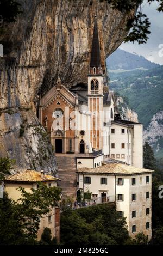
<path fill-rule="evenodd" d="M 51 175 L 46 175 L 43 171 L 36 172 L 35 170 L 25 170 L 22 173 L 10 175 L 5 179 L 5 191 L 8 197 L 17 201 L 21 198 L 21 191 L 18 187 L 25 188 L 26 192 L 32 193 L 31 188 L 37 189 L 38 182 L 43 182 L 48 187 L 57 186 L 59 179 Z M 54 207 L 48 215 L 40 219 L 40 228 L 37 233 L 37 240 L 41 239 L 44 228 L 51 229 L 52 238 L 60 239 L 60 208 Z"/>

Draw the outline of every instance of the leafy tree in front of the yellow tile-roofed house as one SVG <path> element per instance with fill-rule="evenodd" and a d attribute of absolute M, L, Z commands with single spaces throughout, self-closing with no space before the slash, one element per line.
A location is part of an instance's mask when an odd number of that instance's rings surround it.
<path fill-rule="evenodd" d="M 20 187 L 21 198 L 14 202 L 7 193 L 0 199 L 1 245 L 33 245 L 36 243 L 40 218 L 57 205 L 61 189 L 39 184 L 37 190 L 26 192 Z"/>

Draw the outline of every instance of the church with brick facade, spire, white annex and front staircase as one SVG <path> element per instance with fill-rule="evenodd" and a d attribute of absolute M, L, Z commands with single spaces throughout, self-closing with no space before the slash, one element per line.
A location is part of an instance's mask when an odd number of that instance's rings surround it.
<path fill-rule="evenodd" d="M 39 120 L 50 134 L 63 194 L 76 197 L 76 171 L 114 159 L 142 168 L 142 124 L 122 120 L 106 83 L 95 18 L 87 84 L 66 88 L 60 77 L 40 98 Z"/>

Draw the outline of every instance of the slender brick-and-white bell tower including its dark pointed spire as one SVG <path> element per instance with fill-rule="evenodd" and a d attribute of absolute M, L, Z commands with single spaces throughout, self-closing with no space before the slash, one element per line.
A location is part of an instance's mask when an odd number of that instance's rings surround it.
<path fill-rule="evenodd" d="M 97 18 L 95 17 L 88 74 L 88 110 L 91 113 L 90 141 L 92 148 L 96 150 L 103 148 L 103 80 Z"/>

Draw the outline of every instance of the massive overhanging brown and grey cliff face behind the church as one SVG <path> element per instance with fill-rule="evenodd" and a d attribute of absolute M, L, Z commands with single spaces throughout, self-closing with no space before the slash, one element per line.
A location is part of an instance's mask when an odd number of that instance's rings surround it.
<path fill-rule="evenodd" d="M 51 89 L 58 75 L 66 87 L 87 81 L 95 14 L 102 57 L 120 46 L 127 34 L 124 28 L 129 14 L 111 9 L 105 0 L 18 2 L 23 13 L 0 36 L 4 47 L 4 57 L 0 58 L 0 157 L 15 158 L 17 168 L 31 168 L 36 158 L 36 169 L 55 170 L 55 159 L 48 152 L 52 148 L 44 143 L 45 131 L 34 113 L 38 95 Z M 104 62 L 102 65 L 104 69 Z M 20 137 L 24 113 L 32 126 L 27 125 Z M 40 141 L 45 159 L 38 149 Z"/>

